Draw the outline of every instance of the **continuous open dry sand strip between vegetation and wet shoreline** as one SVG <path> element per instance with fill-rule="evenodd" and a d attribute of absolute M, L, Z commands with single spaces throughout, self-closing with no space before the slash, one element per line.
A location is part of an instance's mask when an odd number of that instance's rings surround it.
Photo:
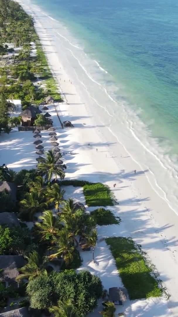
<path fill-rule="evenodd" d="M 63 120 L 69 119 L 75 125 L 74 129 L 61 131 L 64 151 L 73 152 L 73 155 L 65 155 L 66 177 L 101 181 L 111 188 L 117 184 L 113 190 L 120 203 L 116 211 L 124 222 L 122 235 L 132 236 L 147 252 L 171 294 L 168 307 L 177 317 L 177 216 L 150 187 L 146 177 L 148 172 L 140 171 L 120 142 L 108 134 L 105 126 L 97 124 L 89 100 L 83 99 L 84 87 L 79 86 L 77 77 L 73 77 L 72 65 L 67 64 L 67 60 L 65 65 L 61 63 L 63 44 L 54 29 L 56 22 L 47 16 L 44 18 L 36 6 L 28 5 L 28 1 L 19 2 L 28 13 L 34 15 L 35 12 L 35 27 L 60 89 L 67 98 L 67 103 L 60 104 L 58 110 Z M 57 117 L 54 125 L 58 125 Z"/>

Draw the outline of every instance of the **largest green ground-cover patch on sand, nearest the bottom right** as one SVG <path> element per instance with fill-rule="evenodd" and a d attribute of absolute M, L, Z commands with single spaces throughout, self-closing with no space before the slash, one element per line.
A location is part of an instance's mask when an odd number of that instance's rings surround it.
<path fill-rule="evenodd" d="M 116 261 L 116 266 L 131 300 L 158 297 L 163 293 L 154 266 L 148 263 L 140 246 L 131 238 L 107 238 L 106 243 Z"/>

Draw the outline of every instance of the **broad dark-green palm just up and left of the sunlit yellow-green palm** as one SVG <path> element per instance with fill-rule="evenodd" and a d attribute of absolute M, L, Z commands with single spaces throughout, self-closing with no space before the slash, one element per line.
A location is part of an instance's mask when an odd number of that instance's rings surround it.
<path fill-rule="evenodd" d="M 22 214 L 28 213 L 30 220 L 33 220 L 35 213 L 42 212 L 48 206 L 43 194 L 39 194 L 35 190 L 31 190 L 31 192 L 26 193 L 25 198 L 20 201 L 20 205 Z"/>

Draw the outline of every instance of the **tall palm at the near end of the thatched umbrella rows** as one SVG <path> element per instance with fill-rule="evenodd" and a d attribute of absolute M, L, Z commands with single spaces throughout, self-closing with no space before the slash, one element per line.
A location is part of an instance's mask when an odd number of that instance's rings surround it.
<path fill-rule="evenodd" d="M 45 175 L 45 178 L 48 179 L 48 181 L 51 181 L 52 174 L 55 175 L 55 178 L 57 180 L 57 177 L 59 176 L 61 179 L 64 179 L 65 172 L 62 165 L 56 165 L 56 162 L 58 161 L 57 158 L 55 158 L 52 151 L 46 152 L 46 159 L 44 162 L 41 162 L 38 164 L 37 168 L 39 171 L 42 172 L 43 175 Z"/>

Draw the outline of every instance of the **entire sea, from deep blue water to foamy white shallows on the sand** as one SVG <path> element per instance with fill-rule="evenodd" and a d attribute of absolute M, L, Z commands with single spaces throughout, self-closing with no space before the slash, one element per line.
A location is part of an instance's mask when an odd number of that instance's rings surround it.
<path fill-rule="evenodd" d="M 176 212 L 177 1 L 33 2 L 60 22 L 61 58 L 74 66 L 95 117 L 150 170 L 151 186 Z"/>

